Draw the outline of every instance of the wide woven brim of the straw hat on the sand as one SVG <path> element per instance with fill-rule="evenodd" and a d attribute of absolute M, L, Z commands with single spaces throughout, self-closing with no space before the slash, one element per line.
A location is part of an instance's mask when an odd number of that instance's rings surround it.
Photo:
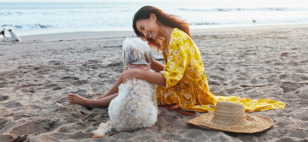
<path fill-rule="evenodd" d="M 261 116 L 255 114 L 246 114 L 250 116 L 247 120 L 247 124 L 216 124 L 213 120 L 214 112 L 208 112 L 201 114 L 199 117 L 195 117 L 188 121 L 189 124 L 193 124 L 197 127 L 211 130 L 219 130 L 225 132 L 236 132 L 236 133 L 256 133 L 264 131 L 270 128 L 274 123 L 273 120 L 268 116 Z"/>

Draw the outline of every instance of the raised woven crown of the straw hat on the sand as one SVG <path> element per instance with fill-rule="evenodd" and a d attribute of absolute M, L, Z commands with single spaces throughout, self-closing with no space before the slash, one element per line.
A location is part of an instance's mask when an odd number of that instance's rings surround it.
<path fill-rule="evenodd" d="M 224 125 L 243 125 L 247 123 L 243 104 L 219 101 L 216 104 L 213 123 Z"/>

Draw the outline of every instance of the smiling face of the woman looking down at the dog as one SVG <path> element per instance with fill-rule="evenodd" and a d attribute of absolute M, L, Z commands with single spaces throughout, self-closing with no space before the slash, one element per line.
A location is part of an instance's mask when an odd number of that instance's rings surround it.
<path fill-rule="evenodd" d="M 156 40 L 159 37 L 159 25 L 156 22 L 155 14 L 151 14 L 148 19 L 137 21 L 136 26 L 136 28 L 148 39 Z"/>

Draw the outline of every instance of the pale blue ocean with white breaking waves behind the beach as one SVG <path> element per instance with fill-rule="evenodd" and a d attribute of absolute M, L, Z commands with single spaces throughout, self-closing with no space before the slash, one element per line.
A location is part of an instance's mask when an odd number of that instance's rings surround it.
<path fill-rule="evenodd" d="M 1 28 L 19 35 L 75 31 L 132 31 L 132 17 L 142 6 L 155 6 L 186 20 L 191 29 L 308 23 L 308 2 L 252 3 L 0 3 Z M 256 20 L 253 25 L 252 19 Z"/>

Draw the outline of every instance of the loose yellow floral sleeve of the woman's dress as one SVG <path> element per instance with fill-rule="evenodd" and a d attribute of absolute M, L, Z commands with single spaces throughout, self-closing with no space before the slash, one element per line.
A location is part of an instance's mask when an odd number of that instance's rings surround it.
<path fill-rule="evenodd" d="M 183 45 L 180 42 L 172 43 L 168 50 L 166 66 L 160 71 L 166 79 L 166 88 L 176 85 L 182 79 L 186 63 L 187 55 Z"/>

